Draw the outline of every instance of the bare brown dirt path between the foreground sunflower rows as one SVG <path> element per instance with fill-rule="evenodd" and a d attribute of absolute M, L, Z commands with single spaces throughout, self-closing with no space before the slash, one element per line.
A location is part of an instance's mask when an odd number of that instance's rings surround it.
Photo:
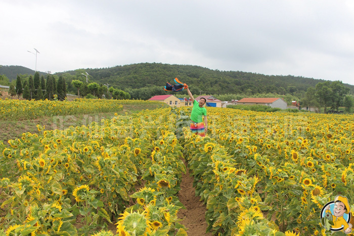
<path fill-rule="evenodd" d="M 190 236 L 212 236 L 206 232 L 207 223 L 205 221 L 205 205 L 199 197 L 195 197 L 195 188 L 193 187 L 193 177 L 187 168 L 187 174 L 182 175 L 181 191 L 178 194 L 181 203 L 187 209 L 181 209 L 178 217 L 183 219 L 181 224 L 187 227 L 187 233 Z"/>

